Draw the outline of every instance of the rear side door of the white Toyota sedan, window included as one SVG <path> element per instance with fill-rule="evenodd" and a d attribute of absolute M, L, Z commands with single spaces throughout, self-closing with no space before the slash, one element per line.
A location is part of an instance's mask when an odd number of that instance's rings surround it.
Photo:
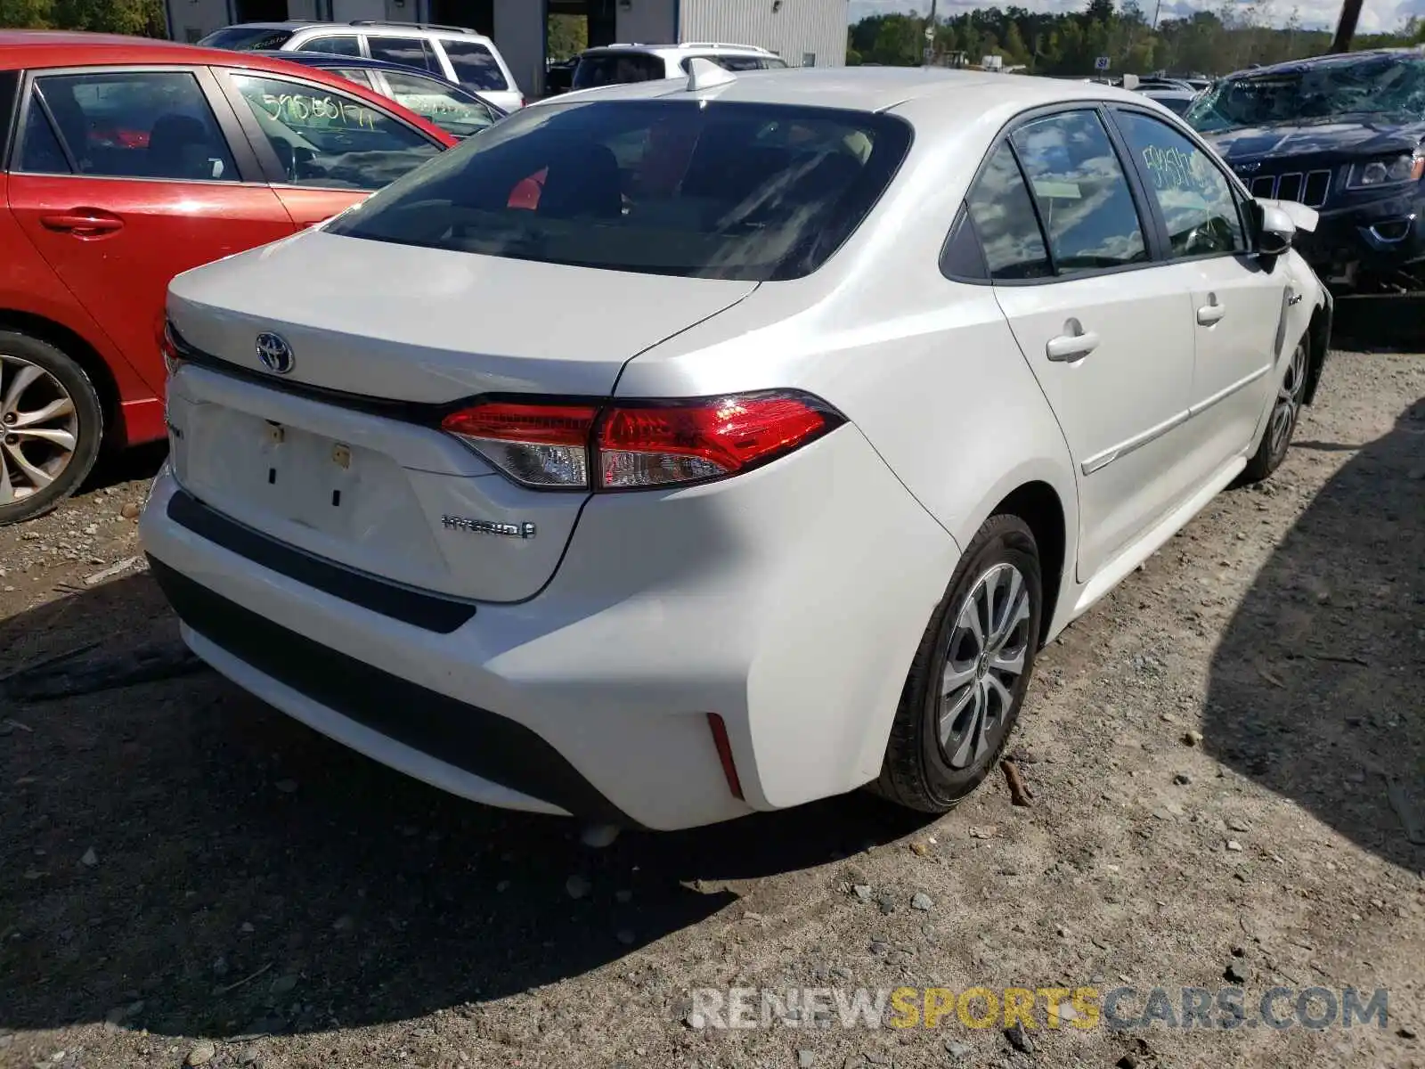
<path fill-rule="evenodd" d="M 1082 582 L 1191 489 L 1191 308 L 1183 279 L 1154 261 L 1140 200 L 1094 108 L 1020 123 L 969 198 L 992 272 L 1020 265 L 995 289 L 1074 460 Z M 1015 204 L 1037 227 L 1007 228 Z"/>

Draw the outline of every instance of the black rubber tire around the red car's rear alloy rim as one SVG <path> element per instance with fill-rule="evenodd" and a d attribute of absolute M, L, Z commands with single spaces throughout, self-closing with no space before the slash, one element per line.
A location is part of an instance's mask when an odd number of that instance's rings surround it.
<path fill-rule="evenodd" d="M 47 396 L 44 391 L 47 388 L 53 391 L 56 385 L 68 393 L 74 405 L 76 429 L 73 433 L 76 443 L 68 463 L 64 465 L 63 470 L 58 470 L 53 482 L 36 487 L 19 469 L 14 455 L 10 452 L 21 442 L 19 436 L 6 433 L 4 420 L 13 420 L 14 416 L 13 413 L 0 413 L 0 463 L 7 465 L 11 487 L 7 495 L 10 496 L 9 503 L 0 503 L 0 526 L 40 516 L 74 493 L 90 469 L 94 468 L 100 443 L 104 440 L 104 409 L 88 375 L 53 345 L 27 334 L 0 331 L 0 379 L 3 379 L 0 381 L 0 405 L 4 403 L 10 386 L 24 363 L 36 366 L 50 376 L 48 381 L 40 379 L 31 386 L 40 392 L 41 401 Z M 58 396 L 57 392 L 54 396 Z M 34 442 L 28 440 L 26 445 L 31 449 L 27 456 L 36 458 Z M 0 472 L 0 487 L 3 486 L 4 472 Z"/>

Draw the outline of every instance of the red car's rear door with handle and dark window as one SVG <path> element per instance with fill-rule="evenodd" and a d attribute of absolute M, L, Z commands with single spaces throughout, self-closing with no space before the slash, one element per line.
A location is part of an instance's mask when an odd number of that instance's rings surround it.
<path fill-rule="evenodd" d="M 292 232 L 204 67 L 38 71 L 23 87 L 10 210 L 161 392 L 170 279 Z"/>

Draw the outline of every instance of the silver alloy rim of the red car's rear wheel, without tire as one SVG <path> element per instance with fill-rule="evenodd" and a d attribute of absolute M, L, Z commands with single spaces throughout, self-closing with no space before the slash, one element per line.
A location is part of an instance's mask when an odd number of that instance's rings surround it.
<path fill-rule="evenodd" d="M 0 505 L 58 479 L 74 459 L 74 399 L 44 368 L 0 352 Z"/>

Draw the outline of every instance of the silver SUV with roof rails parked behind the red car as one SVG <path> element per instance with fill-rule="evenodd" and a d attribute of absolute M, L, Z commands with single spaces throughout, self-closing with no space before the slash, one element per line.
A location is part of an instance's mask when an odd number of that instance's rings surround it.
<path fill-rule="evenodd" d="M 430 23 L 242 23 L 214 30 L 198 44 L 235 51 L 322 51 L 369 56 L 419 67 L 479 93 L 496 107 L 524 107 L 520 87 L 494 41 L 460 26 Z"/>

